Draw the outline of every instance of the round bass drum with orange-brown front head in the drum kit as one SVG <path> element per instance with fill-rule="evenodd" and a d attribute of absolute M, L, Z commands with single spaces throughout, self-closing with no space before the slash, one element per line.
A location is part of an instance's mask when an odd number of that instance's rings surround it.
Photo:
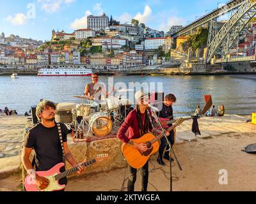
<path fill-rule="evenodd" d="M 107 136 L 111 132 L 113 123 L 107 112 L 92 113 L 89 126 L 96 136 Z"/>

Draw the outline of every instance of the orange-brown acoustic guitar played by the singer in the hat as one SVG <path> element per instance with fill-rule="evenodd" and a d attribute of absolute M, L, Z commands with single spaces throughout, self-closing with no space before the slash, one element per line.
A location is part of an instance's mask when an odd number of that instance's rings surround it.
<path fill-rule="evenodd" d="M 166 129 L 166 131 L 172 131 L 174 128 L 182 124 L 182 122 L 184 122 L 184 119 L 177 119 L 175 124 Z M 142 168 L 145 163 L 147 163 L 149 157 L 158 151 L 160 146 L 159 140 L 161 140 L 163 136 L 163 133 L 158 136 L 147 133 L 146 135 L 141 136 L 141 138 L 131 139 L 134 143 L 145 143 L 145 145 L 147 145 L 147 151 L 145 152 L 140 152 L 140 150 L 136 149 L 129 143 L 122 143 L 121 150 L 127 163 L 129 163 L 132 168 Z"/>

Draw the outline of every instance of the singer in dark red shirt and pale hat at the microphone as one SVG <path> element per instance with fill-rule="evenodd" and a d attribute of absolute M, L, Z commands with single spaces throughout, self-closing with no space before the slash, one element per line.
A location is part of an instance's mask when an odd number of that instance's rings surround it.
<path fill-rule="evenodd" d="M 131 139 L 140 138 L 141 136 L 145 135 L 146 133 L 161 133 L 161 131 L 157 131 L 154 129 L 153 123 L 151 120 L 152 113 L 148 108 L 149 104 L 149 96 L 148 93 L 141 91 L 136 92 L 134 95 L 135 98 L 135 109 L 130 112 L 122 126 L 120 127 L 116 137 L 122 140 L 124 143 L 129 143 L 133 145 L 136 149 L 140 150 L 141 152 L 147 151 L 147 145 L 145 143 L 134 143 L 130 141 Z M 128 131 L 128 134 L 125 133 Z M 168 132 L 166 132 L 169 135 Z M 136 173 L 137 169 L 132 168 L 128 164 L 129 168 L 129 180 L 127 184 L 128 191 L 134 191 L 134 184 L 136 182 Z M 147 163 L 141 168 L 141 191 L 147 191 L 148 186 L 148 161 Z"/>

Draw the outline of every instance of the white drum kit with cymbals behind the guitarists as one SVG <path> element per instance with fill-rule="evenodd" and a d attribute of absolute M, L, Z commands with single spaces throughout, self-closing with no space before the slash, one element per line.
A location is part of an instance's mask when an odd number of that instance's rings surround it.
<path fill-rule="evenodd" d="M 133 90 L 119 90 L 127 92 Z M 100 112 L 95 112 L 90 104 L 84 100 L 90 100 L 88 96 L 73 96 L 82 100 L 81 104 L 72 109 L 72 137 L 75 142 L 83 142 L 86 136 L 104 137 L 110 133 L 115 134 L 124 122 L 127 114 L 133 110 L 131 103 L 126 98 L 111 96 L 100 101 Z"/>

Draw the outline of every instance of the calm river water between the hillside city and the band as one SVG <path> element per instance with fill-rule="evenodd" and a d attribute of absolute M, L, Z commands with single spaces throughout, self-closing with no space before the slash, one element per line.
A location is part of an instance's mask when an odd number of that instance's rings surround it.
<path fill-rule="evenodd" d="M 100 76 L 100 82 L 108 84 L 108 81 L 108 77 Z M 90 77 L 20 76 L 12 79 L 1 76 L 0 108 L 8 106 L 9 109 L 16 109 L 19 114 L 24 114 L 40 99 L 50 99 L 58 103 L 81 103 L 81 100 L 72 96 L 82 95 L 88 82 L 91 82 Z M 146 86 L 148 84 L 150 92 L 163 89 L 164 94 L 175 94 L 177 103 L 173 110 L 177 116 L 188 115 L 198 104 L 203 107 L 205 94 L 212 95 L 212 101 L 217 107 L 225 105 L 226 113 L 250 115 L 256 112 L 256 75 L 116 76 L 113 82 L 122 82 L 127 89 L 129 85 L 131 88 L 131 85 L 144 83 Z M 157 86 L 157 83 L 160 84 Z M 127 94 L 130 101 L 133 94 Z"/>

